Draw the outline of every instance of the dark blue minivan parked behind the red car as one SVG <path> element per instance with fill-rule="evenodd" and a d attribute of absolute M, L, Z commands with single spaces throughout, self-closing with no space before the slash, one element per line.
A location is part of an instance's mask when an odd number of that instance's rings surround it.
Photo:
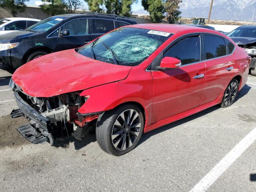
<path fill-rule="evenodd" d="M 80 47 L 114 28 L 130 24 L 136 22 L 110 14 L 52 16 L 24 31 L 0 36 L 0 69 L 12 73 L 34 58 Z"/>

